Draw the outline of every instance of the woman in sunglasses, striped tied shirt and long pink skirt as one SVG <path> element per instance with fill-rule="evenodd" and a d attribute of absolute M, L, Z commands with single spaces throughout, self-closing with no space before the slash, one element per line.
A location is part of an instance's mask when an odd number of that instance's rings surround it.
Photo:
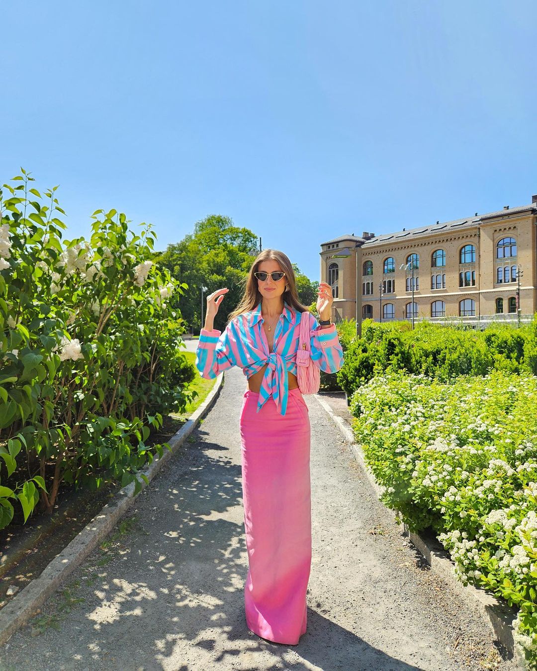
<path fill-rule="evenodd" d="M 213 320 L 228 291 L 207 296 L 196 366 L 206 378 L 240 366 L 248 378 L 240 413 L 246 624 L 264 639 L 295 645 L 306 630 L 311 566 L 309 411 L 298 388 L 296 354 L 300 319 L 308 319 L 315 366 L 341 368 L 343 352 L 330 322 L 334 298 L 320 282 L 318 322 L 299 302 L 289 258 L 270 249 L 252 264 L 221 333 Z"/>

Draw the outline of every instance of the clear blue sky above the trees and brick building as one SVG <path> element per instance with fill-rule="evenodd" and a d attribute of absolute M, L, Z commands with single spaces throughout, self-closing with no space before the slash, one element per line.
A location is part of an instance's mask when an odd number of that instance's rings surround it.
<path fill-rule="evenodd" d="M 320 243 L 537 193 L 531 0 L 4 0 L 0 180 L 164 249 L 219 213 L 318 279 Z"/>

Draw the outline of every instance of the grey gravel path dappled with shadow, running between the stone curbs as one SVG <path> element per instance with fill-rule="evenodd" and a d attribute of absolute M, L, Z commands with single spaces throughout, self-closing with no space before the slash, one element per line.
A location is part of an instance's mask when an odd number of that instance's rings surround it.
<path fill-rule="evenodd" d="M 246 629 L 244 389 L 242 371 L 226 373 L 190 442 L 66 590 L 11 637 L 0 671 L 514 668 L 407 544 L 313 397 L 307 633 L 283 646 Z"/>

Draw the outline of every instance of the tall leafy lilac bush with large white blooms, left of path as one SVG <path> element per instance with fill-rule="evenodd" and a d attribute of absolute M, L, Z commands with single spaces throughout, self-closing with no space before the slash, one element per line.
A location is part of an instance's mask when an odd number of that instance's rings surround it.
<path fill-rule="evenodd" d="M 0 190 L 0 528 L 17 501 L 23 521 L 52 511 L 62 482 L 138 491 L 166 446 L 150 432 L 194 376 L 172 303 L 186 285 L 152 263 L 151 227 L 98 210 L 89 241 L 64 242 L 56 189 L 32 181 Z"/>

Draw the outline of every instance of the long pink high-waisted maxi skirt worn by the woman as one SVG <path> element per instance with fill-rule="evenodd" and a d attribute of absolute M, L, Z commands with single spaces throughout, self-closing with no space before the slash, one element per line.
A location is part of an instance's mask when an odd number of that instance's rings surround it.
<path fill-rule="evenodd" d="M 285 415 L 272 397 L 256 412 L 258 396 L 247 390 L 240 413 L 246 625 L 295 645 L 306 630 L 311 567 L 309 414 L 299 389 L 289 390 Z"/>

